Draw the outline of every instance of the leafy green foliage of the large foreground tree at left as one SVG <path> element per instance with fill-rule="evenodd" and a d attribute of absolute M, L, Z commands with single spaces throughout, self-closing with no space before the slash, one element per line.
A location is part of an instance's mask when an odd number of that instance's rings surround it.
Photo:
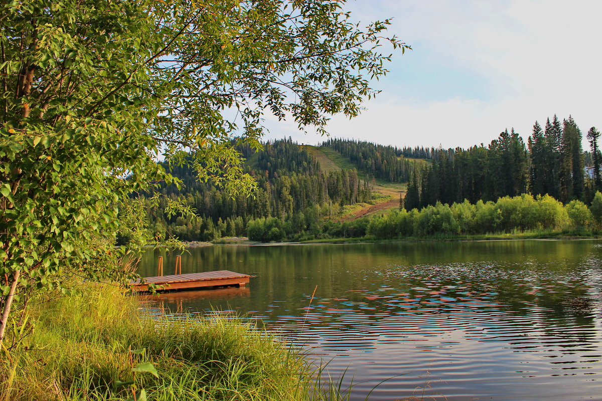
<path fill-rule="evenodd" d="M 12 299 L 19 274 L 21 289 L 60 286 L 64 269 L 106 276 L 115 262 L 119 201 L 172 180 L 158 154 L 236 195 L 255 185 L 231 139 L 257 147 L 265 113 L 318 132 L 332 114 L 358 114 L 362 100 L 376 93 L 368 80 L 386 72 L 389 55 L 379 41 L 407 46 L 383 37 L 388 20 L 359 26 L 342 6 L 336 0 L 0 6 L 5 299 Z"/>

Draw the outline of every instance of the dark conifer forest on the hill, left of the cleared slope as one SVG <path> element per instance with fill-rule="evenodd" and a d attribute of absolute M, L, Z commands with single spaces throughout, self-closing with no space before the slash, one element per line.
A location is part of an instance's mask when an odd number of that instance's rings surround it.
<path fill-rule="evenodd" d="M 159 238 L 214 240 L 246 236 L 249 222 L 255 220 L 271 231 L 265 239 L 300 237 L 308 231 L 315 236 L 321 230 L 320 219 L 338 216 L 345 207 L 373 197 L 368 181 L 362 179 L 365 174 L 358 174 L 355 168 L 323 171 L 307 148 L 291 139 L 267 142 L 258 152 L 247 147 L 238 150 L 247 159 L 245 170 L 258 183 L 255 194 L 232 198 L 211 183 L 199 182 L 191 168 L 172 167 L 173 175 L 183 185 L 180 189 L 163 186 L 160 192 L 193 208 L 198 217 L 158 212 L 167 203 L 165 197 L 160 197 L 158 207 L 149 212 L 152 229 Z"/>

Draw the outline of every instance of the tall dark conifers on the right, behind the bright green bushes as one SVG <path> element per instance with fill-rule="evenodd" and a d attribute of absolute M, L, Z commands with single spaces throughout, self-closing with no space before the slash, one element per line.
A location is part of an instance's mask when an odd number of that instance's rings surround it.
<path fill-rule="evenodd" d="M 545 129 L 533 126 L 527 145 L 514 132 L 505 130 L 487 147 L 438 150 L 432 164 L 412 172 L 405 209 L 465 199 L 496 200 L 523 193 L 549 194 L 562 203 L 577 199 L 589 203 L 600 185 L 600 152 L 595 127 L 588 132 L 591 155 L 583 153 L 582 133 L 569 117 L 562 123 L 556 115 Z M 586 180 L 585 157 L 591 158 L 595 177 Z"/>

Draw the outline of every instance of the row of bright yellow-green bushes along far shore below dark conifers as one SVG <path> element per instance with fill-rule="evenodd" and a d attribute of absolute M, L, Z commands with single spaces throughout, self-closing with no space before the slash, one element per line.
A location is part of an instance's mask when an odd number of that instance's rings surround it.
<path fill-rule="evenodd" d="M 602 194 L 588 207 L 579 200 L 562 204 L 550 195 L 523 194 L 492 201 L 464 201 L 451 206 L 437 202 L 421 210 L 402 209 L 372 218 L 367 234 L 377 238 L 436 236 L 438 234 L 495 234 L 532 230 L 600 230 Z"/>

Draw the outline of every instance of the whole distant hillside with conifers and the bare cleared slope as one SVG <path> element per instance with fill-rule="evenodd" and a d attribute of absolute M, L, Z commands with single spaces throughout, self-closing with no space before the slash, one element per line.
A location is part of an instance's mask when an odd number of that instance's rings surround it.
<path fill-rule="evenodd" d="M 290 138 L 265 142 L 261 150 L 237 145 L 246 158 L 244 171 L 257 184 L 248 197 L 232 197 L 225 188 L 199 181 L 190 166 L 172 165 L 170 171 L 182 180 L 182 186 L 161 186 L 164 197 L 151 207 L 150 229 L 157 238 L 176 236 L 188 241 L 363 236 L 368 224 L 363 217 L 399 208 L 407 186 L 401 179 L 417 162 L 403 157 L 398 161 L 396 148 L 353 145 L 359 147 L 359 158 L 344 156 L 332 147 L 299 145 Z M 376 146 L 379 152 L 373 152 Z M 160 212 L 169 201 L 178 201 L 193 212 Z"/>

